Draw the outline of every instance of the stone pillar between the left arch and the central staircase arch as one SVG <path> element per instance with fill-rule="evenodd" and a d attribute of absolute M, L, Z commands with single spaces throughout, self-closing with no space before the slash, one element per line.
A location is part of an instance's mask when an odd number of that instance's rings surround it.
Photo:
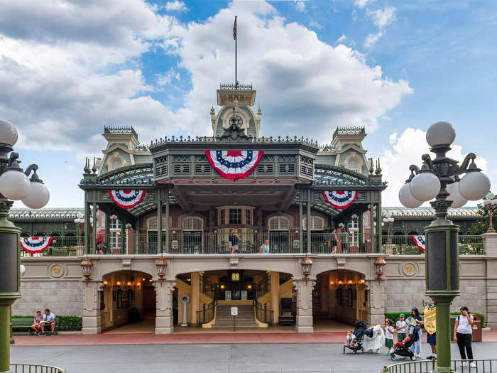
<path fill-rule="evenodd" d="M 155 281 L 155 334 L 171 334 L 174 331 L 173 292 L 176 281 Z"/>

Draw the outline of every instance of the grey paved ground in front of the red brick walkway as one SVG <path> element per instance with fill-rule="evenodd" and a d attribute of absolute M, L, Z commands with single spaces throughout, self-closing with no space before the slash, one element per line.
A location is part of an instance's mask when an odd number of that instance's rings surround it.
<path fill-rule="evenodd" d="M 341 343 L 13 346 L 11 362 L 55 364 L 68 373 L 378 373 L 385 364 L 392 363 L 385 352 L 343 355 L 342 346 Z M 429 347 L 424 343 L 422 356 L 428 352 Z M 474 352 L 476 358 L 497 358 L 497 342 L 475 342 Z M 452 357 L 459 357 L 454 343 Z"/>

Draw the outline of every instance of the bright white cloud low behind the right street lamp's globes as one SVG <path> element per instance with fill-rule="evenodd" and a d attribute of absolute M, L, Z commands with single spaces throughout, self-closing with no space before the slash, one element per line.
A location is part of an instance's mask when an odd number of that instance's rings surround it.
<path fill-rule="evenodd" d="M 382 194 L 383 206 L 401 206 L 398 200 L 398 191 L 409 177 L 409 166 L 412 164 L 418 167 L 422 166 L 421 156 L 425 153 L 430 153 L 430 149 L 426 142 L 426 132 L 421 129 L 408 128 L 402 134 L 391 134 L 389 136 L 391 146 L 383 151 L 381 156 L 381 168 L 383 169 L 383 180 L 388 181 L 388 187 Z M 434 154 L 430 153 L 434 158 Z M 466 153 L 460 145 L 453 144 L 452 150 L 447 153 L 447 156 L 459 162 L 464 159 Z M 476 164 L 484 172 L 487 169 L 487 161 L 485 158 L 478 157 Z M 478 201 L 469 201 L 467 205 L 476 205 Z M 425 206 L 429 206 L 425 202 Z"/>

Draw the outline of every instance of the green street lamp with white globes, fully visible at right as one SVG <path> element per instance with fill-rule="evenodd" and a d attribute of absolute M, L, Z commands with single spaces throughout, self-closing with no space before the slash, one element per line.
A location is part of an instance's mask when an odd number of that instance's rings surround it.
<path fill-rule="evenodd" d="M 447 158 L 456 131 L 452 124 L 439 121 L 426 133 L 430 151 L 424 154 L 422 167 L 409 167 L 411 175 L 400 188 L 399 199 L 405 207 L 430 202 L 437 217 L 425 227 L 426 295 L 437 307 L 437 368 L 435 372 L 454 372 L 450 366 L 450 303 L 459 296 L 459 227 L 447 220 L 447 210 L 463 206 L 467 200 L 479 200 L 490 190 L 490 180 L 476 167 L 476 155 L 469 153 L 459 161 Z M 459 180 L 459 175 L 464 174 Z"/>

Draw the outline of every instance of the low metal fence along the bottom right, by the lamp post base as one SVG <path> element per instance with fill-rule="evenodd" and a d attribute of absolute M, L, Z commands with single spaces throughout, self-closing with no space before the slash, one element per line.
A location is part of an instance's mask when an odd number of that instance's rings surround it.
<path fill-rule="evenodd" d="M 452 367 L 459 373 L 496 373 L 497 359 L 472 360 L 476 367 L 471 367 L 469 360 L 452 360 Z M 461 366 L 461 363 L 465 365 Z M 436 360 L 418 362 L 399 362 L 383 367 L 382 373 L 430 373 L 436 367 Z"/>

